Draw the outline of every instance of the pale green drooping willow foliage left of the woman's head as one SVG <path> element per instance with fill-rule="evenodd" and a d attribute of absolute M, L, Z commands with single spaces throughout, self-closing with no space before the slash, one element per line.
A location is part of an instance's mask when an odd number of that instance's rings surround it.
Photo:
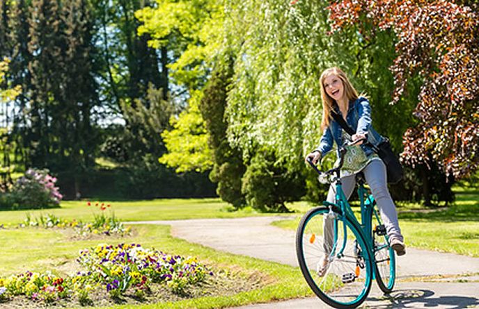
<path fill-rule="evenodd" d="M 317 147 L 320 72 L 343 52 L 338 37 L 326 35 L 326 5 L 228 3 L 235 20 L 226 32 L 237 58 L 226 108 L 228 139 L 244 158 L 268 147 L 288 169 L 299 170 L 304 154 Z"/>

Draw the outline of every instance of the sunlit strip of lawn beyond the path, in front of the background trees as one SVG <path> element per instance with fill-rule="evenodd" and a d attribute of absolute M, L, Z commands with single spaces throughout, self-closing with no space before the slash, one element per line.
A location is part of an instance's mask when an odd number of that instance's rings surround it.
<path fill-rule="evenodd" d="M 0 224 L 18 224 L 23 222 L 26 213 L 32 217 L 52 213 L 62 219 L 91 220 L 99 210 L 95 206 L 86 206 L 87 201 L 62 201 L 61 208 L 42 210 L 0 211 Z M 93 203 L 94 201 L 92 201 Z M 111 210 L 122 221 L 176 220 L 198 218 L 234 218 L 260 215 L 251 208 L 233 212 L 228 203 L 221 199 L 152 199 L 142 201 L 100 201 L 111 204 Z M 109 211 L 109 210 L 108 210 Z"/>

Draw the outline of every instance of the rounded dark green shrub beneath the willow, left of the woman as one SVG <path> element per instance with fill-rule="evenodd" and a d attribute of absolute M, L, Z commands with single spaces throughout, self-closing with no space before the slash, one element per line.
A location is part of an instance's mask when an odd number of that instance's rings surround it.
<path fill-rule="evenodd" d="M 257 151 L 242 179 L 246 202 L 262 212 L 288 212 L 285 202 L 304 194 L 304 179 L 275 162 L 272 153 Z"/>

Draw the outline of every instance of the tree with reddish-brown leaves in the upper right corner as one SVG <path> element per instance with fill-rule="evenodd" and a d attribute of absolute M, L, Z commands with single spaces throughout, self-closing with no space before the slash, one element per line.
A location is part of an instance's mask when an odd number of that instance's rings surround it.
<path fill-rule="evenodd" d="M 464 1 L 463 1 L 464 2 Z M 467 2 L 467 1 L 465 1 Z M 329 6 L 333 30 L 356 26 L 364 37 L 391 29 L 396 58 L 391 103 L 420 76 L 418 125 L 403 137 L 402 159 L 431 158 L 455 178 L 479 166 L 479 14 L 457 1 L 343 0 Z"/>

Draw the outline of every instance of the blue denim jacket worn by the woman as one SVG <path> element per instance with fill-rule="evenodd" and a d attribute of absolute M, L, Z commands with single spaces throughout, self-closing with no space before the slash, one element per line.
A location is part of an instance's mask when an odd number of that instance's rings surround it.
<path fill-rule="evenodd" d="M 338 106 L 335 106 L 335 110 L 341 115 Z M 373 145 L 379 144 L 384 139 L 384 137 L 379 135 L 379 133 L 372 128 L 371 108 L 368 99 L 364 97 L 359 97 L 355 101 L 350 101 L 350 108 L 347 110 L 346 122 L 354 131 L 356 131 L 356 134 L 368 133 L 368 142 Z M 326 128 L 322 134 L 320 146 L 316 149 L 321 152 L 322 157 L 326 156 L 326 154 L 333 149 L 333 141 L 338 145 L 336 156 L 339 158 L 339 149 L 343 147 L 343 128 L 341 128 L 336 120 L 331 119 L 329 127 Z M 366 153 L 366 156 L 370 156 L 374 152 L 371 147 L 366 145 L 361 145 L 361 148 Z"/>

